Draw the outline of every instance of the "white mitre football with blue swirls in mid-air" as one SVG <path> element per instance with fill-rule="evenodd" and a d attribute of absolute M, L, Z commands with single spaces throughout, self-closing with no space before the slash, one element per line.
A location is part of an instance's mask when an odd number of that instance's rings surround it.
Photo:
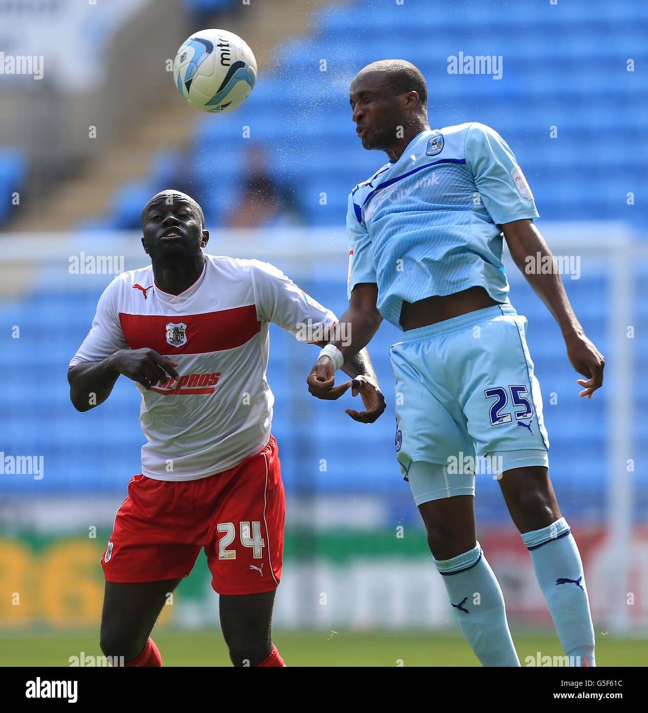
<path fill-rule="evenodd" d="M 182 98 L 200 111 L 231 111 L 254 88 L 256 59 L 233 32 L 201 30 L 182 43 L 173 61 Z"/>

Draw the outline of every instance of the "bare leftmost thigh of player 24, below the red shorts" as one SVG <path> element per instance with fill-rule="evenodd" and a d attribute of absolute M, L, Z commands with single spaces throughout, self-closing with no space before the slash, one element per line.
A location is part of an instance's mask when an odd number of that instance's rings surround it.
<path fill-rule="evenodd" d="M 101 615 L 101 648 L 137 657 L 181 578 L 159 582 L 106 582 Z M 128 660 L 128 659 L 126 659 Z"/>

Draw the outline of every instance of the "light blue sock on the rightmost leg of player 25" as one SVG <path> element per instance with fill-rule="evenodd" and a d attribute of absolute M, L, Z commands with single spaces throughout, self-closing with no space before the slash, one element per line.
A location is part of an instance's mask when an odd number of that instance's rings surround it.
<path fill-rule="evenodd" d="M 594 627 L 582 561 L 565 518 L 522 535 L 531 552 L 535 578 L 543 590 L 570 666 L 595 666 Z M 573 657 L 573 658 L 572 658 Z"/>

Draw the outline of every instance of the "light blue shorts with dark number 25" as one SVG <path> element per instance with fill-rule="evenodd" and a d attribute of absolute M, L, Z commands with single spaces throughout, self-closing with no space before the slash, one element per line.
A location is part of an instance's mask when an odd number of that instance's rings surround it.
<path fill-rule="evenodd" d="M 391 347 L 397 458 L 417 505 L 474 495 L 476 473 L 548 466 L 525 335 L 526 317 L 505 303 L 411 329 Z"/>

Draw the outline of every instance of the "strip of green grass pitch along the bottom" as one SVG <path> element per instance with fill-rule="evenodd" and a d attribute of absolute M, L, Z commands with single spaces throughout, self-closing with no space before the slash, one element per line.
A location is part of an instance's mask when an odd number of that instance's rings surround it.
<path fill-rule="evenodd" d="M 201 632 L 153 632 L 162 654 L 164 666 L 230 666 L 229 657 L 219 630 Z M 525 657 L 562 656 L 558 639 L 551 636 L 513 632 L 518 655 Z M 353 666 L 479 666 L 479 661 L 466 641 L 456 635 L 412 633 L 359 634 L 340 631 L 281 632 L 274 641 L 288 666 L 353 667 Z M 55 632 L 48 635 L 12 633 L 0 637 L 0 666 L 63 666 L 70 665 L 70 656 L 99 656 L 96 634 Z M 597 635 L 598 666 L 645 666 L 648 662 L 648 641 L 620 639 Z"/>

